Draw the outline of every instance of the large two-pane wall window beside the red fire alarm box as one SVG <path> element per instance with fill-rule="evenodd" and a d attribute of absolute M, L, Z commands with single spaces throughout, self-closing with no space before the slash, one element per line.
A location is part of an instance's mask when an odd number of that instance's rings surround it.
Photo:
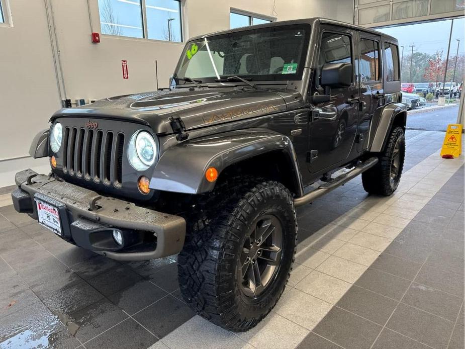
<path fill-rule="evenodd" d="M 102 34 L 182 42 L 180 0 L 99 0 Z"/>

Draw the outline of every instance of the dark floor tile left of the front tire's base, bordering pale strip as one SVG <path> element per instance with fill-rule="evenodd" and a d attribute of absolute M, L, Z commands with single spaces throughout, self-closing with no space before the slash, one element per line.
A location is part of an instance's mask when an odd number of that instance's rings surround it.
<path fill-rule="evenodd" d="M 172 296 L 167 296 L 133 317 L 161 338 L 194 315 L 187 305 Z"/>

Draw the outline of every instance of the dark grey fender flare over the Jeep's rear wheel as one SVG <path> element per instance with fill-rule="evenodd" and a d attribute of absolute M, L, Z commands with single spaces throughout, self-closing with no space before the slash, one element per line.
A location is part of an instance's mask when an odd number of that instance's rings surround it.
<path fill-rule="evenodd" d="M 404 127 L 407 118 L 407 107 L 402 103 L 390 103 L 380 109 L 380 119 L 376 125 L 375 136 L 373 137 L 373 142 L 371 142 L 370 146 L 371 152 L 379 152 L 384 149 L 388 135 L 392 129 L 394 119 L 397 115 L 405 113 L 405 119 L 403 120 Z"/>

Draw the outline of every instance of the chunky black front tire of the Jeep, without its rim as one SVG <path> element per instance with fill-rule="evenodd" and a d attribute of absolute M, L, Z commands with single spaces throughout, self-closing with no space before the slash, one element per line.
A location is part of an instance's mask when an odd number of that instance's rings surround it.
<path fill-rule="evenodd" d="M 271 311 L 285 289 L 296 252 L 296 210 L 281 183 L 240 178 L 217 187 L 196 205 L 195 217 L 187 219 L 177 258 L 179 288 L 200 316 L 231 331 L 246 331 Z M 268 286 L 248 297 L 237 268 L 247 231 L 263 214 L 282 223 L 282 257 Z"/>

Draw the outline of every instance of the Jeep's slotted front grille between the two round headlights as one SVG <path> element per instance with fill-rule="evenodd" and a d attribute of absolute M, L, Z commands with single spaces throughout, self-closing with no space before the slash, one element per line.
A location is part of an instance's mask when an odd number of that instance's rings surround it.
<path fill-rule="evenodd" d="M 87 181 L 122 187 L 124 134 L 65 127 L 63 172 Z"/>

